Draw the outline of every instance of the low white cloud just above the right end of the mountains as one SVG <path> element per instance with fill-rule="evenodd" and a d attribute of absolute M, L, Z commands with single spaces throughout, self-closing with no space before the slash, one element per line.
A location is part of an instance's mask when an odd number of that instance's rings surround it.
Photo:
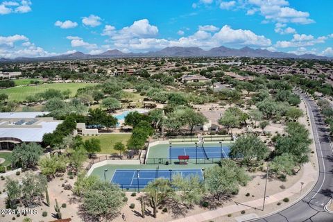
<path fill-rule="evenodd" d="M 278 41 L 275 46 L 278 48 L 313 46 L 314 44 L 325 43 L 326 36 L 314 37 L 313 35 L 294 34 L 290 41 Z"/>

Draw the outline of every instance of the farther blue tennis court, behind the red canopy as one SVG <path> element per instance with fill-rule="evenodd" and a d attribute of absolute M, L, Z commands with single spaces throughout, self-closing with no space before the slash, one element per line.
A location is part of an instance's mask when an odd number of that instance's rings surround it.
<path fill-rule="evenodd" d="M 198 146 L 196 147 L 169 147 L 169 159 L 178 159 L 178 155 L 189 155 L 189 159 L 207 159 L 207 158 L 228 158 L 230 153 L 229 146 Z"/>

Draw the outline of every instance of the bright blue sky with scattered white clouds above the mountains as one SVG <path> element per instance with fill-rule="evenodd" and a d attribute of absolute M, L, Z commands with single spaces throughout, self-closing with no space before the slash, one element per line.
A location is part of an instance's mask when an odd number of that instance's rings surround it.
<path fill-rule="evenodd" d="M 331 0 L 0 0 L 0 58 L 167 46 L 333 56 Z"/>

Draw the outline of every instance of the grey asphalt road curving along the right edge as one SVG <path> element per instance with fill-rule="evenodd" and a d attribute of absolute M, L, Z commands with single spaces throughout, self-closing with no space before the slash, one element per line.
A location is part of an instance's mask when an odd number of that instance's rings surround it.
<path fill-rule="evenodd" d="M 314 131 L 318 155 L 319 178 L 314 188 L 285 210 L 255 221 L 264 222 L 328 222 L 333 214 L 325 212 L 324 207 L 333 197 L 333 149 L 325 130 L 318 105 L 309 96 L 300 94 L 309 108 L 309 116 Z M 306 173 L 306 172 L 305 172 Z"/>

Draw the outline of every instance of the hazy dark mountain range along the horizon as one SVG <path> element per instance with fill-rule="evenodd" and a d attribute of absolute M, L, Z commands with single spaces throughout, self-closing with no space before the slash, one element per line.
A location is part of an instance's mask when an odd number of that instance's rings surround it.
<path fill-rule="evenodd" d="M 160 51 L 151 51 L 147 53 L 123 53 L 117 49 L 105 51 L 101 54 L 91 55 L 77 51 L 76 53 L 63 54 L 60 56 L 27 58 L 19 57 L 15 59 L 0 58 L 0 62 L 16 61 L 45 61 L 45 60 L 80 60 L 94 58 L 135 58 L 135 57 L 251 57 L 251 58 L 297 58 L 297 59 L 316 59 L 330 60 L 325 56 L 316 56 L 314 54 L 296 55 L 293 53 L 273 52 L 266 49 L 251 49 L 246 46 L 241 49 L 231 49 L 225 46 L 203 50 L 198 47 L 167 47 Z"/>

